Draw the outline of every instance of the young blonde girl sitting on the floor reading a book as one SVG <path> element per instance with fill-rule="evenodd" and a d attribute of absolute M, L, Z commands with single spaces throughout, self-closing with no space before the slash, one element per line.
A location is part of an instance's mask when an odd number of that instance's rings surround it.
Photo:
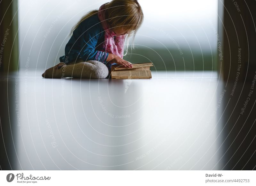
<path fill-rule="evenodd" d="M 108 78 L 111 66 L 132 67 L 125 61 L 124 46 L 143 22 L 137 0 L 113 0 L 86 14 L 72 28 L 60 63 L 47 69 L 44 78 Z M 127 54 L 128 44 L 126 44 Z"/>

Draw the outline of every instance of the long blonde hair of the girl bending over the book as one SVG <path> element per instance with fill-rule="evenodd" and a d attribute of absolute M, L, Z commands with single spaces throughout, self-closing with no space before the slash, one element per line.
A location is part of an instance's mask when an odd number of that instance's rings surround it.
<path fill-rule="evenodd" d="M 85 14 L 71 29 L 70 35 L 85 19 L 97 15 L 99 10 L 92 10 Z M 123 29 L 131 30 L 125 39 L 125 54 L 129 47 L 129 37 L 132 36 L 132 47 L 134 49 L 134 38 L 140 28 L 144 15 L 137 0 L 112 0 L 105 5 L 105 18 L 109 28 L 122 26 Z"/>

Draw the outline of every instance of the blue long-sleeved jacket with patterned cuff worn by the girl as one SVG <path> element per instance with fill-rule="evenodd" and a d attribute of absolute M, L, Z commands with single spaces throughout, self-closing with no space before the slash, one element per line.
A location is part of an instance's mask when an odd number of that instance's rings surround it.
<path fill-rule="evenodd" d="M 82 58 L 84 61 L 100 61 L 110 68 L 111 64 L 106 62 L 108 52 L 104 51 L 104 33 L 98 15 L 85 19 L 74 30 L 66 44 L 65 56 L 60 57 L 60 62 L 68 64 L 76 58 Z"/>

